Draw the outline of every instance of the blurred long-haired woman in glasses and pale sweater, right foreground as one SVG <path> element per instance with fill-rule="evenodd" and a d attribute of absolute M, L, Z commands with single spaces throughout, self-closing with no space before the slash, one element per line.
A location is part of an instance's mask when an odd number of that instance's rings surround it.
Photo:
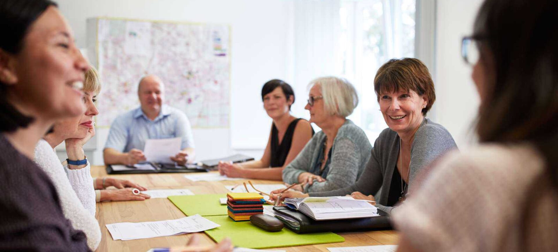
<path fill-rule="evenodd" d="M 556 9 L 555 0 L 483 3 L 462 50 L 481 145 L 441 160 L 397 211 L 398 251 L 557 250 Z"/>

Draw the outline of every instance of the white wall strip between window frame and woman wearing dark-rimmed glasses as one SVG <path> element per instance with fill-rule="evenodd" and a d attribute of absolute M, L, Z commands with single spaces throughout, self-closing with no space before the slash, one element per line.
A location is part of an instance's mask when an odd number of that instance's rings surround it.
<path fill-rule="evenodd" d="M 481 0 L 437 1 L 436 9 L 436 120 L 446 127 L 460 149 L 474 144 L 472 123 L 479 98 L 472 68 L 461 58 L 461 38 L 473 31 Z"/>

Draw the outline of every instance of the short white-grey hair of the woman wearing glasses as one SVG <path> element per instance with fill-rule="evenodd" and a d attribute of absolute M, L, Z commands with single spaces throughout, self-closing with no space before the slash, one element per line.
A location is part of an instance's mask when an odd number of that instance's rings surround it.
<path fill-rule="evenodd" d="M 314 85 L 320 85 L 321 96 L 324 97 L 324 109 L 330 115 L 347 117 L 358 105 L 357 90 L 344 78 L 319 77 L 312 80 L 308 86 L 311 88 Z"/>

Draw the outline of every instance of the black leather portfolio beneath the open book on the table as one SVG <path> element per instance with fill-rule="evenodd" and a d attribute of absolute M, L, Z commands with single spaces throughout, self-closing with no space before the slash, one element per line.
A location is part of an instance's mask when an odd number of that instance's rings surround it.
<path fill-rule="evenodd" d="M 358 219 L 342 220 L 312 220 L 305 214 L 286 206 L 275 206 L 273 210 L 278 212 L 277 219 L 280 219 L 285 226 L 295 233 L 318 233 L 318 232 L 351 232 L 364 230 L 386 230 L 392 229 L 389 222 L 389 215 L 378 209 L 380 216 Z M 286 215 L 290 218 L 282 218 Z"/>

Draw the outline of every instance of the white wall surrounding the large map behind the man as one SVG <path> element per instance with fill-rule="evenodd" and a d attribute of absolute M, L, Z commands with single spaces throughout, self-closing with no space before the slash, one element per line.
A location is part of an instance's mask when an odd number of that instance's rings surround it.
<path fill-rule="evenodd" d="M 291 1 L 57 0 L 57 3 L 73 28 L 80 48 L 86 46 L 85 21 L 90 17 L 230 24 L 230 129 L 194 129 L 196 152 L 198 160 L 233 152 L 256 157 L 262 154 L 271 120 L 262 107 L 261 87 L 271 78 L 281 78 L 287 82 L 293 79 Z M 305 96 L 299 93 L 296 95 Z M 103 102 L 102 93 L 99 102 Z M 93 157 L 95 164 L 102 164 L 102 148 L 107 136 L 108 129 L 98 129 L 97 151 Z"/>

